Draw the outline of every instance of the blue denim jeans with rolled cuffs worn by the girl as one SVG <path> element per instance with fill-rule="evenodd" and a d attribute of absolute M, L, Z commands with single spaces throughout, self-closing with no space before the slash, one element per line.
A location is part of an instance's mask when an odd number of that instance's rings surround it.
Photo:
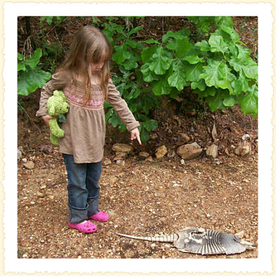
<path fill-rule="evenodd" d="M 79 223 L 99 212 L 101 161 L 75 163 L 73 155 L 65 153 L 63 159 L 68 173 L 68 220 Z"/>

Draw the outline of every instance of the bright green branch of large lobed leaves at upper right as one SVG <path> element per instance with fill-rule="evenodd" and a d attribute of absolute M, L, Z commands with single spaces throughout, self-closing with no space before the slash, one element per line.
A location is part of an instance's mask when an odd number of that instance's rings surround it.
<path fill-rule="evenodd" d="M 205 19 L 205 20 L 204 20 Z M 212 20 L 218 25 L 209 34 Z M 244 113 L 258 113 L 258 65 L 244 48 L 231 18 L 196 18 L 206 39 L 194 43 L 189 30 L 167 32 L 162 42 L 144 49 L 144 80 L 156 95 L 175 97 L 184 87 L 205 99 L 211 111 L 239 103 Z"/>

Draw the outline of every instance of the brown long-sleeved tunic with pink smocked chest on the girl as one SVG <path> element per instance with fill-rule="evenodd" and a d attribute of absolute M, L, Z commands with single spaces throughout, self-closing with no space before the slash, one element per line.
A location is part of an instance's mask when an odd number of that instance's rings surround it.
<path fill-rule="evenodd" d="M 69 103 L 66 121 L 62 125 L 65 132 L 60 139 L 59 151 L 72 154 L 75 163 L 96 163 L 103 158 L 103 146 L 106 135 L 106 123 L 103 110 L 104 94 L 97 84 L 91 85 L 91 99 L 82 103 L 84 89 L 81 82 L 73 81 L 70 75 L 56 73 L 42 88 L 37 116 L 47 115 L 47 100 L 54 90 L 63 90 Z M 127 130 L 139 126 L 127 103 L 120 97 L 112 80 L 108 82 L 108 99 Z"/>

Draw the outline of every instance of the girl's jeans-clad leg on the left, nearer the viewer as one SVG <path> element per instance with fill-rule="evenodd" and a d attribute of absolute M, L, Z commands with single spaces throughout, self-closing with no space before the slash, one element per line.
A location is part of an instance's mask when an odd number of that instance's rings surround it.
<path fill-rule="evenodd" d="M 87 220 L 87 164 L 75 163 L 73 155 L 63 153 L 63 158 L 68 172 L 68 220 L 79 223 Z"/>

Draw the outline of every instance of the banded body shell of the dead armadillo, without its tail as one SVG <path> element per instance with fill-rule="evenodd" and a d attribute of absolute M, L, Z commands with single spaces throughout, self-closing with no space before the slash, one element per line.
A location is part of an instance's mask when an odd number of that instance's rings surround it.
<path fill-rule="evenodd" d="M 245 246 L 239 243 L 237 236 L 215 230 L 206 230 L 203 234 L 191 233 L 189 241 L 185 241 L 184 249 L 202 255 L 221 253 L 228 255 L 246 250 Z"/>

